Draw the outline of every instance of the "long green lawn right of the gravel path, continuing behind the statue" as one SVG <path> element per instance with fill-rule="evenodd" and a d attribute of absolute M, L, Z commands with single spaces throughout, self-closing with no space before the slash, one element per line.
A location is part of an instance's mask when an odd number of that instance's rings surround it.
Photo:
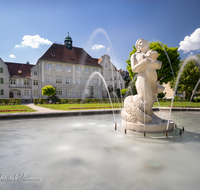
<path fill-rule="evenodd" d="M 171 106 L 171 102 L 160 102 L 161 107 L 169 107 Z M 189 102 L 174 102 L 174 107 L 187 107 Z M 40 104 L 38 106 L 54 109 L 54 110 L 65 110 L 65 111 L 72 111 L 72 110 L 92 110 L 92 109 L 111 109 L 110 103 L 104 104 Z M 120 108 L 119 106 L 123 106 L 123 104 L 115 103 L 113 104 L 114 108 Z M 117 106 L 117 107 L 115 107 Z M 200 107 L 200 102 L 191 102 L 190 107 Z M 154 107 L 158 107 L 157 102 L 154 104 Z M 79 109 L 78 109 L 79 108 Z M 88 109 L 84 109 L 88 108 Z"/>

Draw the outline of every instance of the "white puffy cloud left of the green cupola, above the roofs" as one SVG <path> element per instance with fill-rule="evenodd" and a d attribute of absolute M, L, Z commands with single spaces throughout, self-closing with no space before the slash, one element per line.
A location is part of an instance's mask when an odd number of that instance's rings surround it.
<path fill-rule="evenodd" d="M 39 48 L 41 45 L 51 45 L 52 42 L 49 41 L 48 39 L 41 38 L 39 35 L 31 36 L 31 35 L 25 35 L 22 38 L 22 42 L 20 45 L 16 45 L 16 48 L 21 48 L 21 47 L 27 47 L 30 46 L 32 48 Z"/>

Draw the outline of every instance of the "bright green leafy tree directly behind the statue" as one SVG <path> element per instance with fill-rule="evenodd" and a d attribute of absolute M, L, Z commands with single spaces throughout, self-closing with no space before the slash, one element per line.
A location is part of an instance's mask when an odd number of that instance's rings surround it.
<path fill-rule="evenodd" d="M 178 52 L 178 47 L 168 47 L 167 45 L 162 44 L 161 42 L 151 42 L 149 44 L 149 47 L 150 47 L 150 49 L 153 49 L 158 52 L 157 60 L 162 62 L 161 69 L 157 70 L 159 83 L 162 84 L 162 83 L 168 83 L 168 82 L 172 81 L 174 78 L 173 78 L 171 66 L 168 61 L 167 55 L 165 54 L 165 51 L 168 54 L 168 57 L 172 64 L 173 72 L 174 72 L 174 74 L 176 74 L 179 69 L 179 64 L 180 64 L 180 55 Z M 133 71 L 131 69 L 130 58 L 131 58 L 131 55 L 134 54 L 136 51 L 137 50 L 136 50 L 135 46 L 133 46 L 133 50 L 129 54 L 129 59 L 126 60 L 126 62 L 127 62 L 126 68 L 129 72 L 129 76 L 131 79 L 135 76 L 135 73 L 133 73 Z"/>

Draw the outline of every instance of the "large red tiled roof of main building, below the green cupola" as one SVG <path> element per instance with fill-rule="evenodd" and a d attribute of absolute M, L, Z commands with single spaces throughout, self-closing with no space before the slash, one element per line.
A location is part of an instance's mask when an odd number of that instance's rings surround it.
<path fill-rule="evenodd" d="M 52 44 L 39 60 L 102 67 L 98 64 L 98 59 L 92 58 L 83 48 L 72 47 L 72 50 L 68 50 L 65 45 L 55 43 Z"/>

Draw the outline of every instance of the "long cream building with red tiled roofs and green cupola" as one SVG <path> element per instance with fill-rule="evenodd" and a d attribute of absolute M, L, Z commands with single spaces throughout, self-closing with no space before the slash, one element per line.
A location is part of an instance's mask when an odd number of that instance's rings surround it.
<path fill-rule="evenodd" d="M 72 38 L 65 38 L 65 45 L 52 46 L 39 58 L 36 65 L 3 62 L 0 59 L 0 98 L 21 98 L 32 102 L 43 98 L 42 88 L 56 87 L 59 98 L 82 98 L 90 75 L 97 71 L 105 78 L 107 86 L 125 88 L 125 82 L 108 55 L 92 58 L 84 49 L 73 47 Z M 103 81 L 95 75 L 89 82 L 93 96 L 107 97 Z M 86 97 L 90 96 L 86 90 Z"/>

